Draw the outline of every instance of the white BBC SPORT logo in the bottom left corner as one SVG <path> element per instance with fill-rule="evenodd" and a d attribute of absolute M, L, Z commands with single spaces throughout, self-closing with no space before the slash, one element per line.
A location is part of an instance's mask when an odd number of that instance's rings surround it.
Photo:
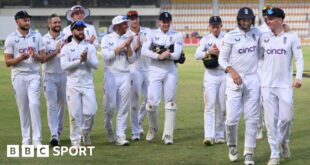
<path fill-rule="evenodd" d="M 50 157 L 49 145 L 7 145 L 7 157 L 19 158 L 19 157 Z M 56 146 L 52 148 L 52 156 L 93 156 L 93 150 L 95 146 L 80 146 L 78 149 L 74 146 Z"/>

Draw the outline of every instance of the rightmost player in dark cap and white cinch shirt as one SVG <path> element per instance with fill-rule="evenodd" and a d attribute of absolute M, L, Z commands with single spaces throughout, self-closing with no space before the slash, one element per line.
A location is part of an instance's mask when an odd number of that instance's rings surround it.
<path fill-rule="evenodd" d="M 293 88 L 300 88 L 304 69 L 301 43 L 296 33 L 285 32 L 285 13 L 274 7 L 267 11 L 271 32 L 260 39 L 263 54 L 261 91 L 263 96 L 268 142 L 271 149 L 268 165 L 279 164 L 279 158 L 290 157 L 289 135 L 294 116 Z M 296 64 L 293 80 L 292 59 Z"/>

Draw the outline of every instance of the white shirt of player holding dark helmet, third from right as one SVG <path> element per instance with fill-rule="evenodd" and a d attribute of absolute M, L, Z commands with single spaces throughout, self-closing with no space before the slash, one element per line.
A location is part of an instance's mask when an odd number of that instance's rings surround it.
<path fill-rule="evenodd" d="M 206 52 L 210 50 L 213 45 L 216 45 L 216 47 L 221 51 L 221 46 L 222 46 L 222 41 L 225 36 L 224 32 L 221 32 L 219 36 L 215 37 L 212 33 L 209 35 L 204 36 L 200 41 L 199 41 L 199 46 L 196 49 L 195 53 L 195 58 L 197 60 L 202 60 L 206 56 Z M 206 68 L 207 69 L 207 68 Z M 222 67 L 218 66 L 215 68 L 216 70 L 222 70 Z M 210 71 L 215 70 L 215 69 L 208 69 Z"/>

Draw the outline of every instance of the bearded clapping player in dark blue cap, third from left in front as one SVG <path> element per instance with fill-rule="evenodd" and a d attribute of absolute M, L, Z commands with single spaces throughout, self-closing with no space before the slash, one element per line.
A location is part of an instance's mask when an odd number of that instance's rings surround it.
<path fill-rule="evenodd" d="M 71 24 L 72 41 L 61 49 L 61 68 L 67 73 L 67 104 L 71 126 L 72 146 L 91 145 L 90 133 L 94 123 L 97 101 L 94 90 L 93 71 L 99 61 L 96 47 L 85 41 L 83 21 Z"/>

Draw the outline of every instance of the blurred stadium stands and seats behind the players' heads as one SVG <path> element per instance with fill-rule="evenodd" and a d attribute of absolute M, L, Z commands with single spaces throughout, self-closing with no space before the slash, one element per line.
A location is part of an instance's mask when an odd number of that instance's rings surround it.
<path fill-rule="evenodd" d="M 261 10 L 264 5 L 277 6 L 286 12 L 285 23 L 297 32 L 303 44 L 310 44 L 310 0 L 0 0 L 0 40 L 15 29 L 14 14 L 26 10 L 32 16 L 32 28 L 42 34 L 47 32 L 47 17 L 56 13 L 62 17 L 65 27 L 68 22 L 65 14 L 76 4 L 87 7 L 91 16 L 86 22 L 96 27 L 102 37 L 115 15 L 137 10 L 143 26 L 156 28 L 157 16 L 161 11 L 169 11 L 173 16 L 173 26 L 184 34 L 186 45 L 196 45 L 208 33 L 208 19 L 220 15 L 224 31 L 236 27 L 236 13 L 241 6 L 251 7 L 256 15 L 256 25 L 262 22 Z"/>

